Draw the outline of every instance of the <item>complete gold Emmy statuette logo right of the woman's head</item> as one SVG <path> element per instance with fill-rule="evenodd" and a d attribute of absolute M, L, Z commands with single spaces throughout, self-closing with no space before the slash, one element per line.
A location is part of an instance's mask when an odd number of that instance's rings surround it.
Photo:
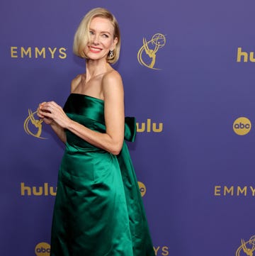
<path fill-rule="evenodd" d="M 137 60 L 140 65 L 144 65 L 145 67 L 149 67 L 150 69 L 158 69 L 155 68 L 156 62 L 156 53 L 159 48 L 164 47 L 166 44 L 166 38 L 164 35 L 157 33 L 152 36 L 152 39 L 147 42 L 145 38 L 143 40 L 143 45 L 137 53 Z M 145 54 L 144 54 L 145 52 Z"/>

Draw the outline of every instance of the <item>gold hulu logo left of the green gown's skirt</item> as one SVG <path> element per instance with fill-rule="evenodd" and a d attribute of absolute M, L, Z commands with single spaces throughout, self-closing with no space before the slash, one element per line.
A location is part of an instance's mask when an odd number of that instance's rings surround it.
<path fill-rule="evenodd" d="M 21 182 L 21 196 L 56 196 L 57 187 L 49 187 L 48 183 L 43 184 L 40 187 L 25 186 L 24 182 Z"/>

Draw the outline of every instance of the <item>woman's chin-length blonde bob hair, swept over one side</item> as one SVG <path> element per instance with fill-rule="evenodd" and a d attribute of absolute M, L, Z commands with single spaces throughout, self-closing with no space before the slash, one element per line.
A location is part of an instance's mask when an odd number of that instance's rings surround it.
<path fill-rule="evenodd" d="M 79 23 L 79 27 L 77 28 L 77 31 L 74 35 L 74 54 L 84 59 L 87 58 L 84 53 L 84 49 L 89 43 L 90 39 L 89 26 L 92 19 L 96 17 L 107 18 L 113 24 L 113 39 L 117 38 L 118 43 L 115 45 L 115 49 L 113 50 L 113 54 L 111 55 L 111 57 L 109 52 L 108 56 L 106 57 L 106 61 L 108 63 L 114 64 L 118 61 L 118 58 L 120 57 L 120 28 L 118 26 L 118 21 L 116 20 L 115 16 L 113 16 L 110 11 L 104 8 L 92 9 L 86 14 L 86 16 L 84 16 L 84 18 L 81 20 L 81 23 Z"/>

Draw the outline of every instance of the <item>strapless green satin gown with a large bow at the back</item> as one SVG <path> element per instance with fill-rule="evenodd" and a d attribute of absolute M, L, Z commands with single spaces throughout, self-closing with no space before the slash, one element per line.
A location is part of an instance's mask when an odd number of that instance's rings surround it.
<path fill-rule="evenodd" d="M 104 102 L 70 94 L 64 111 L 106 132 Z M 125 140 L 135 140 L 135 118 L 125 118 Z M 57 183 L 51 256 L 154 256 L 140 189 L 127 145 L 115 156 L 69 130 Z"/>

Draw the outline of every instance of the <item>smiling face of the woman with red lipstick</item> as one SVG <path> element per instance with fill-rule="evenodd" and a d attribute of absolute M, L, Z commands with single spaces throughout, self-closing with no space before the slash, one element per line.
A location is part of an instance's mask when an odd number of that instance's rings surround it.
<path fill-rule="evenodd" d="M 114 28 L 107 18 L 93 18 L 89 26 L 90 40 L 84 49 L 85 55 L 90 60 L 105 59 L 110 50 L 115 48 L 118 42 L 113 38 Z"/>

